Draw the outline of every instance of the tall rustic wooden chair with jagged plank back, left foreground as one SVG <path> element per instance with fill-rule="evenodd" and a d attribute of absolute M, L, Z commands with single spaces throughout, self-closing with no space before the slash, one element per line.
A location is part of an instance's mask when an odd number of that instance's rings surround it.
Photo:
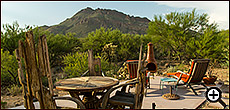
<path fill-rule="evenodd" d="M 55 100 L 69 100 L 85 109 L 83 103 L 72 97 L 56 97 L 53 91 L 52 73 L 49 65 L 48 47 L 46 37 L 40 36 L 35 49 L 33 32 L 26 33 L 25 42 L 19 41 L 19 47 L 15 50 L 18 60 L 18 76 L 23 87 L 24 106 L 26 109 L 35 109 L 33 100 L 39 101 L 40 109 L 56 109 Z M 23 74 L 22 59 L 25 63 L 26 79 Z M 42 79 L 48 79 L 49 87 L 44 86 Z"/>

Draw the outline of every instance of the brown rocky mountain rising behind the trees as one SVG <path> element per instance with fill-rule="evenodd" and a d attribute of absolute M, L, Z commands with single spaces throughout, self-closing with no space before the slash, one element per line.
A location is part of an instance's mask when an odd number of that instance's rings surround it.
<path fill-rule="evenodd" d="M 129 16 L 116 10 L 93 10 L 87 7 L 58 25 L 42 27 L 54 34 L 74 32 L 77 37 L 86 37 L 100 27 L 117 28 L 123 33 L 145 34 L 149 22 L 147 18 Z"/>

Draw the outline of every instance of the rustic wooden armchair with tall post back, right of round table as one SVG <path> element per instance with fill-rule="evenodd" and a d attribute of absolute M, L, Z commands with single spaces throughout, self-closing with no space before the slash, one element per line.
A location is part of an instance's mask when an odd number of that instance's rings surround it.
<path fill-rule="evenodd" d="M 142 101 L 144 98 L 144 89 L 145 89 L 145 69 L 143 68 L 144 62 L 141 63 L 141 52 L 142 45 L 140 48 L 138 69 L 137 69 L 137 78 L 134 78 L 125 84 L 120 84 L 109 89 L 103 100 L 102 100 L 102 109 L 105 108 L 125 108 L 125 106 L 129 106 L 130 109 L 141 109 Z M 145 59 L 145 58 L 144 58 Z M 145 60 L 144 60 L 145 61 Z M 126 87 L 128 85 L 135 84 L 135 93 L 126 92 Z M 121 88 L 121 91 L 117 90 Z M 116 91 L 116 94 L 110 97 L 113 91 Z"/>

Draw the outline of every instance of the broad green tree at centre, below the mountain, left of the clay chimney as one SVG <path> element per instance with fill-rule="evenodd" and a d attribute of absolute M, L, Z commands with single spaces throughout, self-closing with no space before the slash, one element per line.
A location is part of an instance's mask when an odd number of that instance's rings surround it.
<path fill-rule="evenodd" d="M 109 61 L 115 61 L 114 58 L 117 58 L 118 61 L 138 59 L 138 54 L 136 53 L 139 52 L 140 44 L 143 43 L 143 41 L 145 41 L 145 43 L 147 42 L 145 38 L 147 37 L 138 34 L 123 34 L 118 29 L 112 30 L 112 28 L 105 29 L 101 27 L 95 32 L 89 33 L 83 42 L 83 51 L 93 49 L 95 54 L 102 56 L 104 47 L 112 43 L 117 46 L 114 52 L 116 57 L 110 59 L 107 55 L 106 58 L 109 59 Z"/>

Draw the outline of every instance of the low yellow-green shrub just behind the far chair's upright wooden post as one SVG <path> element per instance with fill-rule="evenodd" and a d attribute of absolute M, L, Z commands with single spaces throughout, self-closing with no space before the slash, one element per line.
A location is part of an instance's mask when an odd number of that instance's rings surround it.
<path fill-rule="evenodd" d="M 99 55 L 95 56 L 95 58 L 101 59 L 101 68 L 102 71 L 108 71 L 112 68 L 110 66 L 107 59 L 101 57 Z M 63 57 L 63 63 L 66 65 L 64 68 L 65 74 L 68 77 L 79 77 L 85 71 L 88 70 L 88 53 L 87 52 L 75 52 L 73 54 L 67 54 Z M 96 66 L 96 71 L 98 71 L 98 67 Z"/>

